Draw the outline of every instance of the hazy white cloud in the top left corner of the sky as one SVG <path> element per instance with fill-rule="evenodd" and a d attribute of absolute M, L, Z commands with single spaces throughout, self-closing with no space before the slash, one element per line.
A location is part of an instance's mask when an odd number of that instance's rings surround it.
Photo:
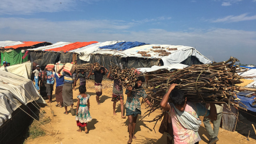
<path fill-rule="evenodd" d="M 71 11 L 78 3 L 91 3 L 100 0 L 1 0 L 1 14 L 32 14 L 35 12 Z"/>

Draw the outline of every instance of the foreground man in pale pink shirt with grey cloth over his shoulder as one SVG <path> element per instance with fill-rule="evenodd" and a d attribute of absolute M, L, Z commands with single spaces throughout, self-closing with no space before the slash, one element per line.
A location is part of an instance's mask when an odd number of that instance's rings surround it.
<path fill-rule="evenodd" d="M 172 91 L 176 85 L 173 83 L 169 87 L 168 92 L 165 93 L 160 103 L 162 109 L 168 112 L 168 115 L 171 117 L 174 143 L 199 143 L 201 140 L 198 134 L 198 129 L 201 125 L 199 116 L 216 120 L 216 107 L 211 103 L 211 109 L 208 110 L 200 103 L 187 102 L 187 97 L 183 91 Z M 172 103 L 168 103 L 169 96 L 171 96 Z M 217 141 L 212 141 L 212 143 L 215 142 Z"/>

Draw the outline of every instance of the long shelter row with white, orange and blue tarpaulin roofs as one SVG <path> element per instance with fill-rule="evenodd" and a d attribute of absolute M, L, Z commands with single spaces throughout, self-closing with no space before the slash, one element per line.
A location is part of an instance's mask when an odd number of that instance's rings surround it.
<path fill-rule="evenodd" d="M 125 41 L 56 42 L 54 44 L 42 42 L 41 44 L 42 46 L 30 46 L 31 48 L 26 49 L 28 51 L 25 52 L 28 53 L 30 61 L 41 66 L 58 61 L 67 63 L 74 60 L 77 60 L 78 64 L 98 62 L 106 68 L 113 63 L 122 63 L 126 68 L 150 68 L 154 65 L 168 66 L 174 63 L 192 65 L 211 62 L 195 48 L 182 45 Z M 24 43 L 12 47 L 19 48 L 21 45 Z M 6 46 L 4 49 L 12 47 Z M 8 61 L 6 54 L 3 56 L 2 61 Z"/>

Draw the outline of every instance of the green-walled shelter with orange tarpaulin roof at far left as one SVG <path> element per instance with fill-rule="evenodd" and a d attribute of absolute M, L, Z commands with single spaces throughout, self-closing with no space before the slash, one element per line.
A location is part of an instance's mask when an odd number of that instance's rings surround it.
<path fill-rule="evenodd" d="M 4 42 L 2 42 L 4 43 Z M 7 43 L 7 42 L 5 42 Z M 12 42 L 13 43 L 13 42 Z M 19 42 L 16 42 L 19 43 Z M 39 46 L 51 45 L 49 42 L 22 42 L 18 45 L 6 45 L 2 46 L 1 51 L 1 65 L 3 61 L 11 63 L 11 65 L 15 65 L 18 63 L 28 61 L 28 52 L 25 52 L 26 49 L 29 48 L 37 48 Z"/>

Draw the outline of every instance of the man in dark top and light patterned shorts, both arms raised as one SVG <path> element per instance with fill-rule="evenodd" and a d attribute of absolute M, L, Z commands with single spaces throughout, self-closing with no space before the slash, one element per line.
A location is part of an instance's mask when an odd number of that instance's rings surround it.
<path fill-rule="evenodd" d="M 91 75 L 95 75 L 95 91 L 96 91 L 96 101 L 98 102 L 98 105 L 100 105 L 101 103 L 99 102 L 99 96 L 102 95 L 102 89 L 101 89 L 101 82 L 103 79 L 103 76 L 108 72 L 108 69 L 104 68 L 103 66 L 101 66 L 101 68 L 99 69 L 99 71 L 91 71 L 89 72 L 89 75 L 87 78 L 89 78 L 89 76 Z"/>

